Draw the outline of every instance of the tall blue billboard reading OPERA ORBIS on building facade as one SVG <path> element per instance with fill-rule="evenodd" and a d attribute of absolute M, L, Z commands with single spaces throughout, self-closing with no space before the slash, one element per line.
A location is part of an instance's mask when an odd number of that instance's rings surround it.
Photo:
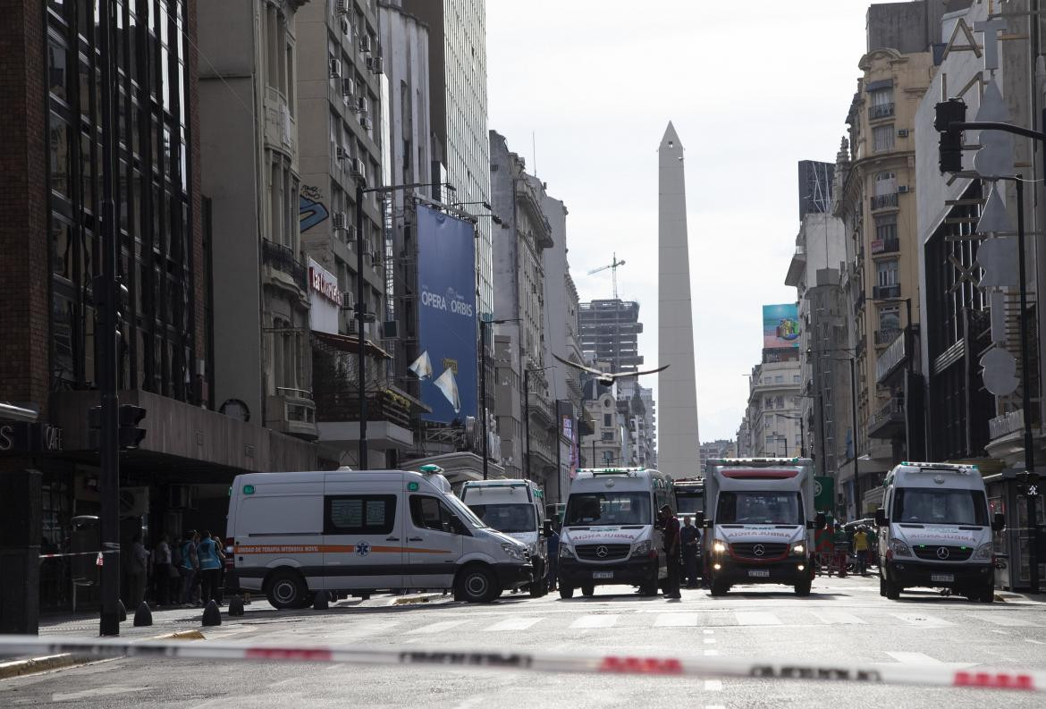
<path fill-rule="evenodd" d="M 422 401 L 432 409 L 425 420 L 476 415 L 475 252 L 471 222 L 417 206 L 417 345 L 432 362 L 432 376 L 422 381 Z"/>

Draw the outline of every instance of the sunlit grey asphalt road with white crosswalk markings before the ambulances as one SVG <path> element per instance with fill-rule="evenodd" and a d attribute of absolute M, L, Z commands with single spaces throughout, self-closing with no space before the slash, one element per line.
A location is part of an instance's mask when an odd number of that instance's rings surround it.
<path fill-rule="evenodd" d="M 600 589 L 593 598 L 505 596 L 488 605 L 335 607 L 275 612 L 204 628 L 208 640 L 515 648 L 776 658 L 800 663 L 929 663 L 1046 669 L 1046 603 L 991 605 L 926 592 L 879 596 L 871 578 L 819 579 L 809 598 L 741 587 L 681 601 Z M 182 617 L 187 618 L 183 614 Z M 163 631 L 184 620 L 168 619 Z M 198 627 L 198 625 L 196 625 Z M 50 628 L 50 632 L 62 628 Z M 78 635 L 87 635 L 78 633 Z M 1036 707 L 1044 694 L 752 679 L 544 674 L 429 667 L 118 659 L 0 682 L 2 707 Z"/>

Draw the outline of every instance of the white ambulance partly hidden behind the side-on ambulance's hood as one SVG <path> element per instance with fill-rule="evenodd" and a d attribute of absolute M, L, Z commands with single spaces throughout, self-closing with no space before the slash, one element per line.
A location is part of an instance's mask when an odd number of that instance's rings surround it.
<path fill-rule="evenodd" d="M 530 595 L 548 593 L 548 542 L 545 493 L 532 480 L 476 480 L 461 486 L 461 501 L 476 517 L 526 545 L 533 564 Z"/>

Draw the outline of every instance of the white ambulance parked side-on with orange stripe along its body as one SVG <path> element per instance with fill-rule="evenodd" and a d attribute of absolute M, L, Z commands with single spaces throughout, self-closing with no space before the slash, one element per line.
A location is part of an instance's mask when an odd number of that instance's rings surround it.
<path fill-rule="evenodd" d="M 301 608 L 316 591 L 453 589 L 490 601 L 531 581 L 526 546 L 491 529 L 438 473 L 236 476 L 228 535 L 244 591 Z"/>

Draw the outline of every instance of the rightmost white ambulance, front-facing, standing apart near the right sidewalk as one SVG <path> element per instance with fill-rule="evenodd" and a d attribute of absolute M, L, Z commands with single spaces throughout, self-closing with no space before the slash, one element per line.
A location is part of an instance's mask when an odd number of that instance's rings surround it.
<path fill-rule="evenodd" d="M 995 599 L 992 532 L 976 465 L 903 462 L 883 481 L 879 527 L 879 592 L 895 600 L 913 586 L 954 589 L 970 600 Z"/>

